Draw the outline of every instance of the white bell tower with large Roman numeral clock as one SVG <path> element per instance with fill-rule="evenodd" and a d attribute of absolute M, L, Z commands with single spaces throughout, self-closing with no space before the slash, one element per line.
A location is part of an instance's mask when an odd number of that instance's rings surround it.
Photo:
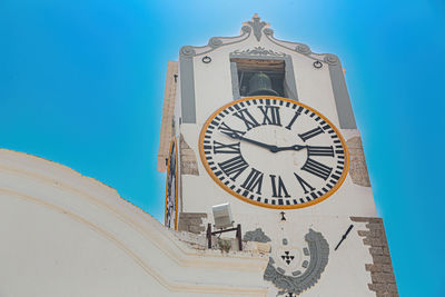
<path fill-rule="evenodd" d="M 257 14 L 182 47 L 158 170 L 167 227 L 204 235 L 230 204 L 243 239 L 270 247 L 268 296 L 398 296 L 337 56 L 276 39 Z"/>

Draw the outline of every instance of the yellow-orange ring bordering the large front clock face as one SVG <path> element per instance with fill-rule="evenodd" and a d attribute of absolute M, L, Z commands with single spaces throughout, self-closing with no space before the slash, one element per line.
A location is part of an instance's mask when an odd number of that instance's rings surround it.
<path fill-rule="evenodd" d="M 299 204 L 299 205 L 286 205 L 286 206 L 284 206 L 284 205 L 283 206 L 267 205 L 267 204 L 258 202 L 258 201 L 251 200 L 249 198 L 246 198 L 243 195 L 239 195 L 238 192 L 231 190 L 229 187 L 224 185 L 219 180 L 219 178 L 217 178 L 215 176 L 215 174 L 210 169 L 210 166 L 208 165 L 206 156 L 204 154 L 204 136 L 205 136 L 205 133 L 207 131 L 207 128 L 210 125 L 210 122 L 214 120 L 214 118 L 217 115 L 219 115 L 219 112 L 221 112 L 224 109 L 226 109 L 226 108 L 228 108 L 230 106 L 234 106 L 236 103 L 248 101 L 248 100 L 253 100 L 253 99 L 276 99 L 276 100 L 287 101 L 287 102 L 290 102 L 290 103 L 295 103 L 295 105 L 301 106 L 301 107 L 313 111 L 317 116 L 319 116 L 322 119 L 324 119 L 334 129 L 334 131 L 337 133 L 337 136 L 338 136 L 339 140 L 342 141 L 342 145 L 343 145 L 343 147 L 345 149 L 345 168 L 344 168 L 343 174 L 342 174 L 340 178 L 338 179 L 337 184 L 329 191 L 327 191 L 325 195 L 320 196 L 319 198 L 317 198 L 315 200 L 312 200 L 309 202 Z M 241 98 L 241 99 L 228 102 L 227 105 L 224 105 L 222 107 L 218 108 L 218 110 L 216 110 L 214 113 L 211 113 L 211 116 L 207 119 L 207 121 L 204 123 L 204 126 L 201 128 L 201 132 L 199 135 L 199 156 L 200 156 L 201 162 L 204 165 L 204 168 L 206 168 L 206 171 L 209 174 L 211 179 L 214 179 L 215 182 L 218 184 L 227 192 L 229 192 L 230 195 L 233 195 L 233 196 L 237 197 L 238 199 L 241 199 L 243 201 L 246 201 L 248 204 L 260 206 L 260 207 L 266 207 L 266 208 L 274 208 L 274 209 L 296 209 L 296 208 L 304 208 L 304 207 L 308 207 L 308 206 L 312 206 L 312 205 L 319 204 L 319 202 L 324 201 L 325 199 L 327 199 L 329 196 L 332 196 L 342 186 L 342 184 L 346 179 L 347 172 L 349 171 L 349 151 L 348 151 L 348 148 L 346 146 L 346 141 L 343 138 L 343 136 L 339 132 L 339 130 L 337 129 L 337 127 L 335 127 L 335 125 L 330 120 L 328 120 L 325 116 L 323 116 L 319 111 L 315 110 L 314 108 L 312 108 L 309 106 L 306 106 L 306 105 L 304 105 L 301 102 L 295 101 L 293 99 L 283 98 L 283 97 L 276 97 L 276 96 L 246 97 L 246 98 Z"/>

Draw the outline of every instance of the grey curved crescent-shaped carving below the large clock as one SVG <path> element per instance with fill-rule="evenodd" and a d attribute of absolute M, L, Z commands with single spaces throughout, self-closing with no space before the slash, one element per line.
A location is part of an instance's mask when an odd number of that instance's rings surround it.
<path fill-rule="evenodd" d="M 328 242 L 320 232 L 316 232 L 313 229 L 309 229 L 309 232 L 306 234 L 305 240 L 309 247 L 310 260 L 304 263 L 304 266 L 307 266 L 307 268 L 303 274 L 299 274 L 300 271 L 298 270 L 294 271 L 293 276 L 286 275 L 284 269 L 276 268 L 274 259 L 269 258 L 264 279 L 271 281 L 280 289 L 278 295 L 288 294 L 291 296 L 293 294 L 301 294 L 314 286 L 325 270 L 329 256 Z"/>

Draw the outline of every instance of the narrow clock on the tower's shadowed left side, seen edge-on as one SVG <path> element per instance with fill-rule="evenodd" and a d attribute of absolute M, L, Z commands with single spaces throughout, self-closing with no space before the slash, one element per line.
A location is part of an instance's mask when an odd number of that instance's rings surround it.
<path fill-rule="evenodd" d="M 167 164 L 165 226 L 177 229 L 178 221 L 178 150 L 176 138 L 171 140 Z"/>

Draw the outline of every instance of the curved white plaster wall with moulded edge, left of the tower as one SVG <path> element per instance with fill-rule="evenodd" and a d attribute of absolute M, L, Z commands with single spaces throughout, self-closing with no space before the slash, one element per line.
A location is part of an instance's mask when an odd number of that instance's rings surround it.
<path fill-rule="evenodd" d="M 116 190 L 0 149 L 0 296 L 265 296 L 267 258 L 197 250 Z"/>

